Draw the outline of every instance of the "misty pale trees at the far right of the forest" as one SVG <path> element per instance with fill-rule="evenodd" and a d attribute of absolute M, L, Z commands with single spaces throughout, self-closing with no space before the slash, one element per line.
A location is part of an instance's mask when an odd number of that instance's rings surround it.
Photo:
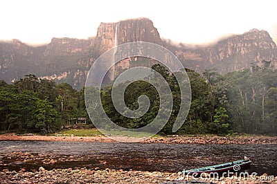
<path fill-rule="evenodd" d="M 277 134 L 277 71 L 271 62 L 224 76 L 208 70 L 204 77 L 233 131 Z"/>

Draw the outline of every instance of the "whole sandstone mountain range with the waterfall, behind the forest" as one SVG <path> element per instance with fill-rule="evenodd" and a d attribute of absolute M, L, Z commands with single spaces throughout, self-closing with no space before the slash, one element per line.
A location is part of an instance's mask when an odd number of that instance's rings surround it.
<path fill-rule="evenodd" d="M 89 68 L 109 48 L 127 42 L 152 42 L 171 50 L 188 68 L 202 72 L 217 68 L 221 73 L 249 68 L 251 63 L 271 61 L 277 68 L 277 48 L 265 30 L 250 30 L 208 46 L 172 44 L 161 39 L 150 19 L 128 19 L 117 23 L 101 23 L 96 37 L 89 39 L 53 38 L 45 46 L 28 46 L 17 39 L 0 42 L 0 79 L 11 82 L 28 73 L 38 77 L 84 86 Z M 138 58 L 120 62 L 114 73 L 139 64 Z M 150 59 L 150 62 L 151 61 Z M 150 64 L 151 65 L 151 64 Z"/>

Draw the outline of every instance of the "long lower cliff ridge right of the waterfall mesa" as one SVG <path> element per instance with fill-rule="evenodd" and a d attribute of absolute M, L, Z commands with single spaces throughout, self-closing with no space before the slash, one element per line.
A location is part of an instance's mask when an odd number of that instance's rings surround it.
<path fill-rule="evenodd" d="M 205 47 L 180 44 L 170 48 L 184 66 L 198 72 L 205 68 L 217 68 L 220 73 L 240 71 L 251 64 L 261 65 L 262 60 L 277 68 L 277 47 L 265 30 L 253 29 Z"/>

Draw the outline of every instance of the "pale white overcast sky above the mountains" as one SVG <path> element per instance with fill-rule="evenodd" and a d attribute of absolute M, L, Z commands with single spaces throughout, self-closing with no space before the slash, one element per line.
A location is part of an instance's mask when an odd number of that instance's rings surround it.
<path fill-rule="evenodd" d="M 1 0 L 0 7 L 0 39 L 29 44 L 95 36 L 100 22 L 136 17 L 151 19 L 161 37 L 175 42 L 202 44 L 252 28 L 277 41 L 276 0 Z"/>

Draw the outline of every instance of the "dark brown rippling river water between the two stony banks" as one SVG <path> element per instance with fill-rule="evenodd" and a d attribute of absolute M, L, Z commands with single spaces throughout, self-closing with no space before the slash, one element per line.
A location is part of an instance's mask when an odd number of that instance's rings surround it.
<path fill-rule="evenodd" d="M 28 151 L 82 158 L 74 163 L 53 165 L 54 168 L 100 167 L 160 172 L 178 172 L 240 160 L 248 156 L 252 164 L 247 172 L 277 176 L 277 145 L 0 141 L 0 147 L 2 155 L 13 151 Z"/>

